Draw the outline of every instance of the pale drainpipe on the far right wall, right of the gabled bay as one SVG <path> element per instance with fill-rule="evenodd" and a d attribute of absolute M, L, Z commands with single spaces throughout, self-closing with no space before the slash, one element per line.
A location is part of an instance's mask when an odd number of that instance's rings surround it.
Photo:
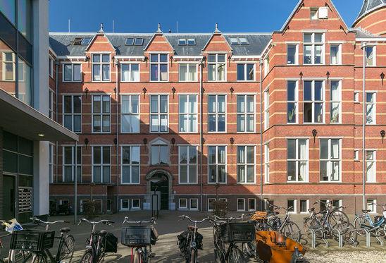
<path fill-rule="evenodd" d="M 362 204 L 363 209 L 367 209 L 366 205 L 366 47 L 367 43 L 361 43 L 361 49 L 363 49 L 363 91 L 362 91 L 362 100 L 363 100 L 363 123 L 362 123 Z"/>

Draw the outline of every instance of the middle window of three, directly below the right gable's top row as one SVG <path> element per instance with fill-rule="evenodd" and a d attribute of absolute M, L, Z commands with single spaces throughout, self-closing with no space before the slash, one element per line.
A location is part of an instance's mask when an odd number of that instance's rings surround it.
<path fill-rule="evenodd" d="M 324 122 L 324 81 L 304 81 L 304 123 Z"/>

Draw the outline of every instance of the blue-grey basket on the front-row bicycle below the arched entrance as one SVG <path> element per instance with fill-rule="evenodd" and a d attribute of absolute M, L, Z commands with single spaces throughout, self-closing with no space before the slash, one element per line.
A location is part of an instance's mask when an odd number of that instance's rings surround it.
<path fill-rule="evenodd" d="M 151 226 L 123 226 L 120 238 L 127 247 L 151 245 Z"/>

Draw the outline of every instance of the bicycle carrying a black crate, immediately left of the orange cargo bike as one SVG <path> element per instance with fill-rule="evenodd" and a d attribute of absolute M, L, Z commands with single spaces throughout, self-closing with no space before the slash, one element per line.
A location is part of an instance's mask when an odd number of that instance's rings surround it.
<path fill-rule="evenodd" d="M 239 248 L 237 243 L 251 243 L 256 239 L 256 230 L 253 222 L 232 222 L 244 219 L 244 214 L 240 217 L 222 218 L 214 216 L 213 222 L 213 241 L 215 249 L 215 262 L 217 263 L 244 263 L 247 257 Z M 228 248 L 225 248 L 228 245 Z"/>

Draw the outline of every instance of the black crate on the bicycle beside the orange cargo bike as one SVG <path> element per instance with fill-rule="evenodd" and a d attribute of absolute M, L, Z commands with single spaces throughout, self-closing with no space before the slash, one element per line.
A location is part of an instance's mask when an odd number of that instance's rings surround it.
<path fill-rule="evenodd" d="M 221 226 L 220 235 L 225 243 L 247 243 L 255 240 L 256 229 L 253 222 L 230 222 Z"/>

